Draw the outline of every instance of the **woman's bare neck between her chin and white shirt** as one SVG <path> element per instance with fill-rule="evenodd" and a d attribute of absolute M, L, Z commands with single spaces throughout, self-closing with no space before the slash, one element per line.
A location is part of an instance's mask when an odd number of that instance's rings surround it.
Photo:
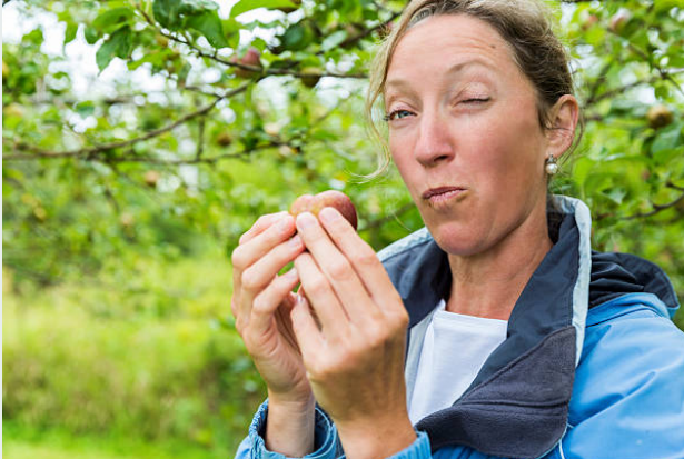
<path fill-rule="evenodd" d="M 523 289 L 553 246 L 545 213 L 543 218 L 529 217 L 533 218 L 483 253 L 449 255 L 453 281 L 447 311 L 508 320 Z"/>

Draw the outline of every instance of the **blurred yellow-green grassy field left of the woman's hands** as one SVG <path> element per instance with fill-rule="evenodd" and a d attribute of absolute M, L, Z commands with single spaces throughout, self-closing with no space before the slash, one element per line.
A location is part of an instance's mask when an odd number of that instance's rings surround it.
<path fill-rule="evenodd" d="M 3 275 L 6 457 L 232 457 L 264 393 L 225 256 L 22 293 Z"/>

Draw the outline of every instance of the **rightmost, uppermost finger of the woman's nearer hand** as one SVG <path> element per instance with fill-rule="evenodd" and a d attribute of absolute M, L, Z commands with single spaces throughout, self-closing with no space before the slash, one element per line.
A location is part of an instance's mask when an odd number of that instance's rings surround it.
<path fill-rule="evenodd" d="M 358 236 L 336 209 L 326 207 L 318 213 L 318 217 L 325 231 L 358 273 L 365 289 L 375 300 L 374 302 L 380 308 L 383 306 L 399 307 L 403 312 L 400 301 L 387 301 L 398 298 L 398 295 L 375 250 Z"/>

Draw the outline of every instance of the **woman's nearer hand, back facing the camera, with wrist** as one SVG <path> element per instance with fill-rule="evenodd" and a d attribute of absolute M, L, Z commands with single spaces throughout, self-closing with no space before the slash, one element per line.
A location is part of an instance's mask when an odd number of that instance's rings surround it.
<path fill-rule="evenodd" d="M 306 297 L 291 317 L 318 403 L 350 459 L 391 456 L 416 438 L 406 408 L 408 315 L 374 250 L 337 210 L 297 218 Z M 313 311 L 311 311 L 313 309 Z"/>

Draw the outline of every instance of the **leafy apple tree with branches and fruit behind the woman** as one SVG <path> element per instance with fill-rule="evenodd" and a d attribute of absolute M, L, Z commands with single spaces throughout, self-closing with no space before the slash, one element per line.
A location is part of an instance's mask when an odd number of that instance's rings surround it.
<path fill-rule="evenodd" d="M 549 1 L 585 129 L 555 192 L 599 250 L 662 265 L 684 296 L 684 4 Z M 53 283 L 130 253 L 230 251 L 258 214 L 345 191 L 376 248 L 420 227 L 374 180 L 368 64 L 395 0 L 4 0 L 3 263 Z M 4 18 L 3 18 L 4 19 Z"/>

